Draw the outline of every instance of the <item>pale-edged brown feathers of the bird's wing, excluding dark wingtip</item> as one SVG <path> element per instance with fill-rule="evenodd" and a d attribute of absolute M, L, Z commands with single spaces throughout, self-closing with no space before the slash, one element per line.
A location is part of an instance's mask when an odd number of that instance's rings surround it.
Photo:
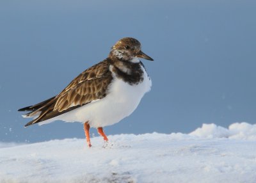
<path fill-rule="evenodd" d="M 57 96 L 53 111 L 62 112 L 104 98 L 112 79 L 108 62 L 88 68 Z"/>

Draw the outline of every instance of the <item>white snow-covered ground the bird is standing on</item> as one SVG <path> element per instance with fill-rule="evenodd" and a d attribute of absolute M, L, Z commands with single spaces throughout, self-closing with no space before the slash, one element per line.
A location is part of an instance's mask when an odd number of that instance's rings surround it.
<path fill-rule="evenodd" d="M 256 125 L 0 143 L 0 182 L 256 182 Z"/>

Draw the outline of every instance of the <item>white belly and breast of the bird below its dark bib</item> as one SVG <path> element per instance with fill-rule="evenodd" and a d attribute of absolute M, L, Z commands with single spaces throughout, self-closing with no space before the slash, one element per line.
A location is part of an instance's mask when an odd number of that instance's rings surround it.
<path fill-rule="evenodd" d="M 105 127 L 120 122 L 126 116 L 131 115 L 143 95 L 150 91 L 151 79 L 145 69 L 141 68 L 144 72 L 143 82 L 130 85 L 113 76 L 114 80 L 109 87 L 109 93 L 104 99 L 91 102 L 39 124 L 53 122 L 54 120 L 81 123 L 89 121 L 91 127 Z"/>

